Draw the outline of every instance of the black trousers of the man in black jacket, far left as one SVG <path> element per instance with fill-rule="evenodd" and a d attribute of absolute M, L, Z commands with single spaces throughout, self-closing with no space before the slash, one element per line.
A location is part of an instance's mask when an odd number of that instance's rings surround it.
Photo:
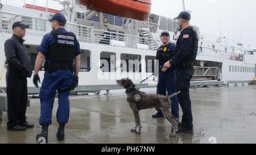
<path fill-rule="evenodd" d="M 6 77 L 7 128 L 26 123 L 27 78 Z"/>

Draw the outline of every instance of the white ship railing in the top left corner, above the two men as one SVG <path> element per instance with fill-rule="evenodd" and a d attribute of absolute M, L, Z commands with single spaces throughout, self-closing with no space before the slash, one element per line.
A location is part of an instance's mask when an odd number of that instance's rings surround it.
<path fill-rule="evenodd" d="M 54 0 L 46 0 L 46 1 L 40 1 L 40 0 L 0 0 L 2 4 L 5 5 L 13 5 L 13 6 L 19 6 L 19 7 L 28 7 L 30 9 L 35 10 L 42 10 L 43 11 L 49 11 L 48 9 L 53 10 L 61 10 L 63 9 L 63 5 L 60 4 L 61 1 L 54 1 Z"/>

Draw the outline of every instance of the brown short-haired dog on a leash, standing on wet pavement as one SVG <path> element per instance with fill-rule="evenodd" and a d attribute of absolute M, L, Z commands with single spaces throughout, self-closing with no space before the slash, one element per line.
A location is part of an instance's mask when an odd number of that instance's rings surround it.
<path fill-rule="evenodd" d="M 172 130 L 171 130 L 171 137 L 176 136 L 177 132 L 177 125 L 178 122 L 172 116 L 170 107 L 171 107 L 171 100 L 169 98 L 174 97 L 175 95 L 179 93 L 175 93 L 173 95 L 170 95 L 169 97 L 166 97 L 164 95 L 158 95 L 158 94 L 146 94 L 141 91 L 138 91 L 135 88 L 134 83 L 131 81 L 131 79 L 123 78 L 117 80 L 117 84 L 119 86 L 123 86 L 127 94 L 127 101 L 130 104 L 131 110 L 133 110 L 134 118 L 135 118 L 135 129 L 131 129 L 131 132 L 135 132 L 137 134 L 141 133 L 141 122 L 139 120 L 139 110 L 144 110 L 147 108 L 160 108 L 163 112 L 164 118 L 166 118 L 171 124 L 172 124 Z M 137 128 L 139 127 L 138 131 Z"/>

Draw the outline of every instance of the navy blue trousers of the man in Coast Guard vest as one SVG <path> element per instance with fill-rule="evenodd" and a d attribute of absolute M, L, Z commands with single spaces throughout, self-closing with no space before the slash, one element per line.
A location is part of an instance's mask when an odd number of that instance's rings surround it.
<path fill-rule="evenodd" d="M 41 103 L 41 116 L 39 124 L 51 124 L 52 123 L 52 108 L 56 95 L 56 90 L 59 90 L 59 106 L 57 109 L 57 122 L 68 123 L 69 119 L 69 93 L 70 91 L 64 91 L 71 86 L 74 75 L 71 70 L 57 70 L 51 74 L 44 73 L 44 79 L 42 88 L 40 90 L 40 103 Z"/>

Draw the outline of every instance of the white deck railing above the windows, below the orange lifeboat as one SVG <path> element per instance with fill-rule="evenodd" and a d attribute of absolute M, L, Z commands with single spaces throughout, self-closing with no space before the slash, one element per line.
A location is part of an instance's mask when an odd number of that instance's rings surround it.
<path fill-rule="evenodd" d="M 92 30 L 92 43 L 94 44 L 105 44 L 113 45 L 112 40 L 117 43 L 117 46 L 127 48 L 140 48 L 154 50 L 155 47 L 152 45 L 154 39 L 147 37 L 139 37 L 133 35 L 126 35 L 124 33 L 103 31 L 103 30 Z M 142 46 L 141 46 L 142 45 Z M 139 47 L 138 47 L 139 46 Z"/>

